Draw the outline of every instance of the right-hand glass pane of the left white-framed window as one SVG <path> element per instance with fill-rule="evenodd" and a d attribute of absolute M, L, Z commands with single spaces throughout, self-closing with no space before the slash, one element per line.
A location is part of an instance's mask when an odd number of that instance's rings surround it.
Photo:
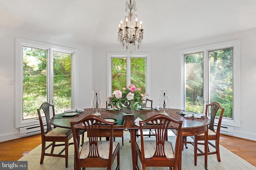
<path fill-rule="evenodd" d="M 53 52 L 53 102 L 56 113 L 72 108 L 72 54 Z"/>

